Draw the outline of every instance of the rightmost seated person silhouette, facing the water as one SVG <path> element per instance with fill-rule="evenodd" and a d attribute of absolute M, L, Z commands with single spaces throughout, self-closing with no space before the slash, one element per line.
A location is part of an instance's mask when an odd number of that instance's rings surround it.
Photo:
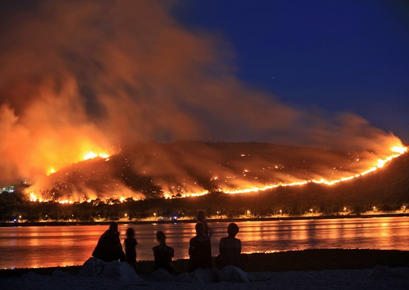
<path fill-rule="evenodd" d="M 247 255 L 241 256 L 241 241 L 236 238 L 239 232 L 239 227 L 235 223 L 230 223 L 227 227 L 227 232 L 229 236 L 222 237 L 220 239 L 219 251 L 220 256 L 217 257 L 217 267 L 219 269 L 233 265 L 238 268 L 243 267 L 244 260 Z"/>

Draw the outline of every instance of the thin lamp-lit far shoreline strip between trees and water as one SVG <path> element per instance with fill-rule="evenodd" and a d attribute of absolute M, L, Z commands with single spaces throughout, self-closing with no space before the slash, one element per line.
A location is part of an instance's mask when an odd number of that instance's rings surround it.
<path fill-rule="evenodd" d="M 299 220 L 337 220 L 337 219 L 370 219 L 370 218 L 397 218 L 409 216 L 409 213 L 379 213 L 379 214 L 347 214 L 347 215 L 316 215 L 316 216 L 280 216 L 277 218 L 232 218 L 208 219 L 208 223 L 235 223 L 235 222 L 264 222 L 264 221 L 299 221 Z M 145 225 L 145 224 L 191 224 L 195 219 L 189 220 L 161 220 L 161 221 L 72 221 L 72 222 L 2 222 L 0 227 L 38 227 L 38 226 L 92 226 L 108 225 L 117 222 L 119 225 Z"/>

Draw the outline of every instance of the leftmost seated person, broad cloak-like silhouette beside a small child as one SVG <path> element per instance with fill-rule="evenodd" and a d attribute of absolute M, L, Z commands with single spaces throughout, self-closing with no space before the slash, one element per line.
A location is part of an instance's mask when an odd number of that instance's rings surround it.
<path fill-rule="evenodd" d="M 93 257 L 103 260 L 104 262 L 115 260 L 125 261 L 125 254 L 122 250 L 119 234 L 118 224 L 112 222 L 109 225 L 109 229 L 99 238 L 97 247 L 95 247 L 93 252 Z"/>

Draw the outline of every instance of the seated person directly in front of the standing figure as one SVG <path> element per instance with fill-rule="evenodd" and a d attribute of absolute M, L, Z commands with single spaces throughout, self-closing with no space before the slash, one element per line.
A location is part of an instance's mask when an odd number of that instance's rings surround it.
<path fill-rule="evenodd" d="M 196 236 L 190 239 L 190 271 L 197 268 L 212 269 L 212 247 L 210 237 L 205 234 L 205 224 L 196 224 Z"/>

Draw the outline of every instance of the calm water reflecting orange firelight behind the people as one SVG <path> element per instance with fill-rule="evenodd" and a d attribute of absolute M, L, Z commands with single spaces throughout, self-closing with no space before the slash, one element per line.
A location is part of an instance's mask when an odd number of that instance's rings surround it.
<path fill-rule="evenodd" d="M 226 236 L 229 223 L 209 223 L 212 254 Z M 239 222 L 243 252 L 309 248 L 370 248 L 409 250 L 409 217 Z M 131 225 L 137 233 L 138 260 L 152 260 L 155 232 L 163 230 L 175 258 L 188 258 L 194 224 Z M 123 241 L 127 225 L 120 225 Z M 0 228 L 0 268 L 52 267 L 82 264 L 108 226 Z"/>

